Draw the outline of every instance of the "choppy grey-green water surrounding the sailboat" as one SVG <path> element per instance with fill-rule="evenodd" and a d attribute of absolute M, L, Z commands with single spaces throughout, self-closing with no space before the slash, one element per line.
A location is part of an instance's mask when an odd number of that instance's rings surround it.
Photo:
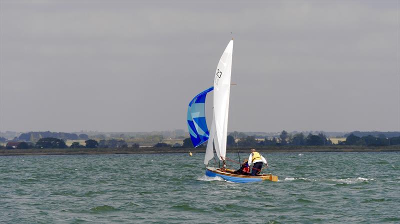
<path fill-rule="evenodd" d="M 279 182 L 206 178 L 204 154 L 0 157 L 0 223 L 400 223 L 400 153 L 262 154 Z"/>

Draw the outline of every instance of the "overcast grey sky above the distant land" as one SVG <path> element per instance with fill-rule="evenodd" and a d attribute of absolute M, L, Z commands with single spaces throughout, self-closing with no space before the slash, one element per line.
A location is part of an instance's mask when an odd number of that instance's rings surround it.
<path fill-rule="evenodd" d="M 232 37 L 228 131 L 400 131 L 398 0 L 1 0 L 0 131 L 187 130 Z"/>

